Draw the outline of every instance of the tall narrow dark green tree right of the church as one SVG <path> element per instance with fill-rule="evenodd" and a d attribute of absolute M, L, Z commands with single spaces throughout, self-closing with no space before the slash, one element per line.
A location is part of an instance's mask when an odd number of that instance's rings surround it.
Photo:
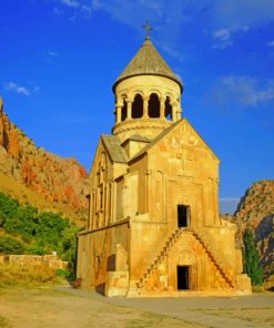
<path fill-rule="evenodd" d="M 258 252 L 256 249 L 255 238 L 252 230 L 244 232 L 244 273 L 251 278 L 252 286 L 262 285 L 263 269 L 260 266 Z"/>

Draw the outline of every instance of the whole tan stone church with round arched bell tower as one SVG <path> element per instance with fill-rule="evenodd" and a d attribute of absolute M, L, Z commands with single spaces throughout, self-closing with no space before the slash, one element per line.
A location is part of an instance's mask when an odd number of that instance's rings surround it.
<path fill-rule="evenodd" d="M 217 156 L 185 117 L 183 84 L 150 37 L 113 84 L 78 278 L 105 296 L 250 294 L 235 226 L 219 216 Z"/>

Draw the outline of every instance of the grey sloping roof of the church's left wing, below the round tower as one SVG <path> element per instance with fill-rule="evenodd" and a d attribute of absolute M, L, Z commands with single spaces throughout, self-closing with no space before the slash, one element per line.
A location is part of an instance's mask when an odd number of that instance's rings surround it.
<path fill-rule="evenodd" d="M 112 162 L 126 164 L 129 158 L 125 151 L 121 147 L 120 140 L 114 135 L 102 134 L 101 136 L 105 151 Z"/>

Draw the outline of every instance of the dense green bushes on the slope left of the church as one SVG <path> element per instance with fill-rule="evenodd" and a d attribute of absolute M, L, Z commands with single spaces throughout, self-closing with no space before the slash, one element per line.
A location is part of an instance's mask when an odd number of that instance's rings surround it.
<path fill-rule="evenodd" d="M 0 193 L 0 254 L 51 254 L 75 263 L 79 228 L 61 215 L 43 212 Z"/>

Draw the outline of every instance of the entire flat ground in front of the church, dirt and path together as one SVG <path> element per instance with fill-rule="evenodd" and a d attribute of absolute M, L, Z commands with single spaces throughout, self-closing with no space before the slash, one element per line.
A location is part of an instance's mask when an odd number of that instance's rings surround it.
<path fill-rule="evenodd" d="M 0 328 L 274 327 L 274 296 L 105 298 L 69 287 L 0 290 Z"/>

